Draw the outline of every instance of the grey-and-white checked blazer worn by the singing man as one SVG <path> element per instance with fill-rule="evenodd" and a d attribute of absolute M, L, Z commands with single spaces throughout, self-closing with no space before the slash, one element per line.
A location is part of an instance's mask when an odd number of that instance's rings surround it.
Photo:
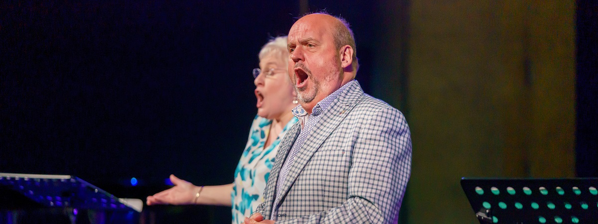
<path fill-rule="evenodd" d="M 295 157 L 272 211 L 280 168 L 301 130 L 286 133 L 257 212 L 276 223 L 396 223 L 411 173 L 411 137 L 397 109 L 350 82 Z"/>

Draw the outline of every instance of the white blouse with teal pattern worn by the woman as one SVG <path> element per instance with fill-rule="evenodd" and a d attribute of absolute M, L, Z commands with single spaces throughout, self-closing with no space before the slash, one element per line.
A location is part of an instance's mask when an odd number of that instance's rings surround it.
<path fill-rule="evenodd" d="M 233 192 L 231 192 L 234 224 L 242 223 L 245 217 L 251 216 L 258 205 L 264 202 L 264 188 L 266 188 L 266 182 L 270 177 L 270 170 L 274 165 L 280 140 L 297 121 L 298 119 L 293 117 L 282 128 L 282 132 L 276 140 L 264 149 L 272 121 L 255 116 L 251 130 L 249 130 L 245 151 L 239 159 L 239 165 L 234 170 L 234 185 Z"/>

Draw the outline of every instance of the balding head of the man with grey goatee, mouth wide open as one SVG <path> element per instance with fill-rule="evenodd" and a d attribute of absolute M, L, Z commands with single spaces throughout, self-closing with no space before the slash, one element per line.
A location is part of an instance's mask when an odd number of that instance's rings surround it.
<path fill-rule="evenodd" d="M 343 20 L 328 14 L 301 17 L 289 30 L 289 78 L 303 109 L 313 107 L 357 72 L 355 41 Z"/>

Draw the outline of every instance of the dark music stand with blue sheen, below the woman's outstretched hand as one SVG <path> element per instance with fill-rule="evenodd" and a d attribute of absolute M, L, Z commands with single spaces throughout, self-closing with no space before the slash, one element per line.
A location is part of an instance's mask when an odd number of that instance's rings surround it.
<path fill-rule="evenodd" d="M 69 208 L 73 223 L 77 213 L 139 216 L 143 201 L 117 198 L 86 181 L 68 175 L 0 173 L 0 186 L 22 195 L 14 200 L 0 197 L 0 210 Z M 4 192 L 7 194 L 7 192 Z M 29 200 L 29 201 L 27 201 Z M 86 214 L 86 216 L 89 214 Z"/>

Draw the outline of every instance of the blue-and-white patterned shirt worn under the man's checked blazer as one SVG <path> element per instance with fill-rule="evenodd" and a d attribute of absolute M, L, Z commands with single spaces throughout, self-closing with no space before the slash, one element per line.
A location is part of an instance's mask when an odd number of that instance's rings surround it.
<path fill-rule="evenodd" d="M 278 200 L 280 198 L 281 193 L 280 189 L 282 188 L 282 185 L 285 183 L 286 176 L 289 173 L 289 169 L 293 164 L 295 156 L 297 156 L 299 150 L 301 149 L 301 146 L 303 146 L 303 143 L 305 143 L 305 141 L 307 140 L 307 136 L 309 136 L 309 134 L 312 133 L 313 127 L 316 124 L 318 124 L 318 121 L 322 117 L 322 114 L 327 111 L 331 103 L 335 99 L 337 99 L 338 95 L 343 93 L 343 91 L 347 87 L 349 87 L 349 85 L 351 85 L 352 82 L 355 82 L 355 80 L 347 82 L 347 84 L 344 84 L 342 87 L 338 88 L 338 90 L 334 91 L 326 98 L 316 103 L 316 106 L 314 106 L 312 109 L 312 114 L 307 113 L 303 109 L 303 107 L 301 107 L 301 105 L 298 105 L 292 110 L 293 115 L 297 116 L 297 118 L 301 122 L 301 131 L 299 133 L 299 136 L 297 137 L 297 140 L 295 140 L 295 143 L 293 144 L 293 147 L 291 148 L 289 155 L 286 157 L 285 162 L 282 164 L 282 168 L 280 168 L 278 181 L 276 182 L 276 197 L 274 198 L 274 204 L 272 207 L 273 212 L 271 213 L 270 219 L 274 219 L 274 215 L 276 214 L 276 204 L 278 204 Z"/>

